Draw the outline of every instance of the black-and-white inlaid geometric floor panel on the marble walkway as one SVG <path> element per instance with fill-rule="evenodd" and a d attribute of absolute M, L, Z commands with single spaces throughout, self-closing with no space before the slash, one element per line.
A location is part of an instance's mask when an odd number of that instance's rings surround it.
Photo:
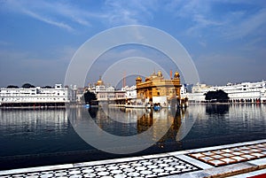
<path fill-rule="evenodd" d="M 9 174 L 0 178 L 79 178 L 79 177 L 160 177 L 200 170 L 199 167 L 174 156 L 140 159 L 98 166 L 80 166 L 43 172 Z"/>

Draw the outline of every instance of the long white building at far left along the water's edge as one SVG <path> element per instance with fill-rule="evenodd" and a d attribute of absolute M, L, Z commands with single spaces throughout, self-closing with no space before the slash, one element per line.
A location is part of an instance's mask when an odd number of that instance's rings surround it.
<path fill-rule="evenodd" d="M 0 89 L 0 106 L 60 106 L 74 103 L 75 87 Z"/>

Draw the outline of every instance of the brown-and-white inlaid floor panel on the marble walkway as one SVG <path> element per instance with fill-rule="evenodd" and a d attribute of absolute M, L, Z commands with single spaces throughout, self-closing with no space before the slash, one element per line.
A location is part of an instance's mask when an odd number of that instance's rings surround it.
<path fill-rule="evenodd" d="M 212 166 L 225 166 L 247 160 L 265 158 L 266 143 L 257 143 L 214 151 L 194 152 L 188 155 Z"/>

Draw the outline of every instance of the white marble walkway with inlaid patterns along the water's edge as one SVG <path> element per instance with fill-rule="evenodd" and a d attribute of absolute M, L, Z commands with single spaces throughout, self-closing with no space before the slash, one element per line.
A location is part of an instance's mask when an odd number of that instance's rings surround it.
<path fill-rule="evenodd" d="M 57 166 L 0 171 L 0 178 L 266 176 L 266 139 Z"/>

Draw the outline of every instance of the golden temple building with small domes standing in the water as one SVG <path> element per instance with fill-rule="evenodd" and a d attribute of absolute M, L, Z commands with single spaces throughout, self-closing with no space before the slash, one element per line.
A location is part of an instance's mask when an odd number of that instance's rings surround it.
<path fill-rule="evenodd" d="M 153 103 L 166 106 L 173 99 L 181 100 L 180 96 L 180 75 L 174 74 L 174 78 L 166 80 L 159 71 L 158 74 L 151 74 L 142 81 L 140 76 L 136 79 L 137 98 L 143 103 Z"/>

